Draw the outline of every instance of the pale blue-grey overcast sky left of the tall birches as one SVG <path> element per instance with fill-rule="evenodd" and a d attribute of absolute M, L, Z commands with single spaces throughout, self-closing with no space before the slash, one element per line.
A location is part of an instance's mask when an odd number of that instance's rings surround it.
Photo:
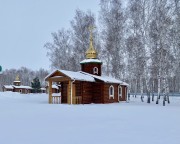
<path fill-rule="evenodd" d="M 50 69 L 43 47 L 51 33 L 69 28 L 75 10 L 92 10 L 99 0 L 0 0 L 0 65 L 3 69 Z"/>

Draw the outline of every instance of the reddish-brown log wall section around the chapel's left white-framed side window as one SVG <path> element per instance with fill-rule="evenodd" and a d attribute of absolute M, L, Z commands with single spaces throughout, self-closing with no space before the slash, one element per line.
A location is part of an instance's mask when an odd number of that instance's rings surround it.
<path fill-rule="evenodd" d="M 114 87 L 114 98 L 109 97 L 109 87 Z M 104 84 L 104 103 L 118 102 L 118 84 Z"/>

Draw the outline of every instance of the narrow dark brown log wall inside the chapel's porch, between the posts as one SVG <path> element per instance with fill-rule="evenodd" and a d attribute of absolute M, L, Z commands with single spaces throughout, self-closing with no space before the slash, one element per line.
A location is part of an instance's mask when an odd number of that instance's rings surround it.
<path fill-rule="evenodd" d="M 61 82 L 61 103 L 67 103 L 68 82 Z"/>

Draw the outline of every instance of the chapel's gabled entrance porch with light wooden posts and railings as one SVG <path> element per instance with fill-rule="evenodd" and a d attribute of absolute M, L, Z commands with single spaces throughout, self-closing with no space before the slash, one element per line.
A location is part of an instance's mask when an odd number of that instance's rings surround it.
<path fill-rule="evenodd" d="M 82 95 L 79 95 L 78 84 L 75 83 L 75 79 L 65 75 L 60 71 L 54 72 L 52 75 L 45 79 L 49 83 L 49 104 L 81 104 Z M 52 84 L 60 83 L 60 93 L 52 93 Z M 77 91 L 76 91 L 77 88 Z"/>

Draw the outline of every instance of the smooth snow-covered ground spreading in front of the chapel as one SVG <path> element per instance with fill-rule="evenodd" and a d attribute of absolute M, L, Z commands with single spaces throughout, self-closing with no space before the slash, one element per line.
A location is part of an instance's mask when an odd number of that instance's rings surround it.
<path fill-rule="evenodd" d="M 0 93 L 0 144 L 180 144 L 180 98 L 48 104 L 47 94 Z"/>

